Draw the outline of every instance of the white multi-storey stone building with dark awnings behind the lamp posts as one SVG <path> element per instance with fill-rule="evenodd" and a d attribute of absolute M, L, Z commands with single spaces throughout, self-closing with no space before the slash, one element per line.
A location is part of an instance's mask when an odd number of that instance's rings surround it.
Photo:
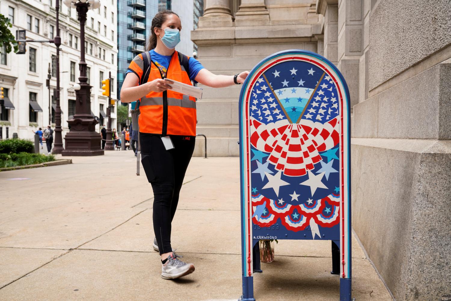
<path fill-rule="evenodd" d="M 117 74 L 117 0 L 101 2 L 99 9 L 89 10 L 85 28 L 85 60 L 88 67 L 88 83 L 91 88 L 91 111 L 98 117 L 99 124 L 106 125 L 108 98 L 102 96 L 101 81 L 108 78 L 111 71 L 112 98 L 116 98 Z M 11 19 L 16 30 L 25 29 L 27 39 L 46 40 L 56 35 L 55 0 L 4 0 L 0 3 L 0 13 Z M 69 116 L 75 112 L 74 84 L 78 83 L 78 62 L 80 60 L 80 23 L 75 9 L 60 5 L 60 107 L 61 127 L 64 136 L 69 132 Z M 54 112 L 56 100 L 56 47 L 48 42 L 27 42 L 25 54 L 6 53 L 0 50 L 0 86 L 7 91 L 13 108 L 2 109 L 0 116 L 0 137 L 32 139 L 32 131 L 49 124 L 49 111 Z M 50 97 L 46 87 L 49 64 L 51 66 Z M 6 96 L 6 95 L 5 95 Z M 50 98 L 50 100 L 49 100 Z M 33 110 L 33 106 L 37 110 Z M 54 116 L 54 113 L 51 115 Z M 115 127 L 116 110 L 111 114 L 112 127 Z M 51 118 L 54 119 L 54 118 Z M 54 122 L 54 121 L 52 121 Z M 96 129 L 99 130 L 99 124 Z"/>

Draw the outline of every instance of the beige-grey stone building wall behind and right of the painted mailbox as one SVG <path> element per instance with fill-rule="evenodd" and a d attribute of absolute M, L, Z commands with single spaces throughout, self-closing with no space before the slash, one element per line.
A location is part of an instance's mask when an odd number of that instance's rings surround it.
<path fill-rule="evenodd" d="M 448 0 L 206 0 L 191 32 L 216 74 L 286 49 L 341 70 L 353 107 L 353 227 L 398 301 L 451 296 L 450 20 Z M 238 156 L 241 86 L 202 88 L 208 155 Z"/>

